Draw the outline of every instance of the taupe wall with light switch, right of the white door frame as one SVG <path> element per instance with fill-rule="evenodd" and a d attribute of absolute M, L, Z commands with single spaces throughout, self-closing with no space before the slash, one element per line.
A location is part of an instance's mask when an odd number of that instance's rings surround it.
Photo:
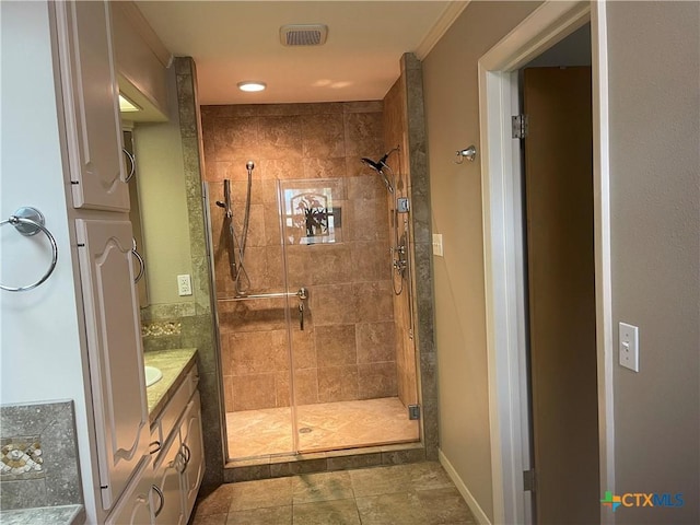
<path fill-rule="evenodd" d="M 615 370 L 616 491 L 685 500 L 619 524 L 700 516 L 699 26 L 698 2 L 608 4 L 612 322 L 641 348 Z"/>

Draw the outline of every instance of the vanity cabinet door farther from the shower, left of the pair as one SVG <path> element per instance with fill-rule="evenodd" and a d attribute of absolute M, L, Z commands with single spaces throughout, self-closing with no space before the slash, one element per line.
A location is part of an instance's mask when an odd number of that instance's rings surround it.
<path fill-rule="evenodd" d="M 155 524 L 179 525 L 186 523 L 183 512 L 182 472 L 185 470 L 185 456 L 180 453 L 180 442 L 177 432 L 165 445 L 155 464 L 154 486 L 162 494 L 162 502 L 153 501 Z M 158 493 L 158 491 L 155 491 Z"/>

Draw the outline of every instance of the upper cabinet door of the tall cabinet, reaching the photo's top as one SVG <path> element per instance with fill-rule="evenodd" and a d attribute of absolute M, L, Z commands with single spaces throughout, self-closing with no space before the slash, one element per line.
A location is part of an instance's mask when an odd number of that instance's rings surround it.
<path fill-rule="evenodd" d="M 128 211 L 109 3 L 55 7 L 73 207 Z"/>

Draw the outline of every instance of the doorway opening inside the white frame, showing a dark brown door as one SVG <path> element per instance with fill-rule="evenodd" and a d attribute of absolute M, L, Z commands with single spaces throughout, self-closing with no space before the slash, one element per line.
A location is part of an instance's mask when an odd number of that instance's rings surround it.
<path fill-rule="evenodd" d="M 599 514 L 590 35 L 585 24 L 518 79 L 534 472 L 525 489 L 538 524 Z"/>

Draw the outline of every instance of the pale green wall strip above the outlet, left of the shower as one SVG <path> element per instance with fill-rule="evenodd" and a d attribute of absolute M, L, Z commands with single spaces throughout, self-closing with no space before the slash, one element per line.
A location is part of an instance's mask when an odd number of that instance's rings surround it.
<path fill-rule="evenodd" d="M 177 276 L 191 273 L 192 264 L 174 68 L 167 90 L 170 120 L 137 124 L 133 130 L 150 304 L 195 301 L 177 293 Z"/>

